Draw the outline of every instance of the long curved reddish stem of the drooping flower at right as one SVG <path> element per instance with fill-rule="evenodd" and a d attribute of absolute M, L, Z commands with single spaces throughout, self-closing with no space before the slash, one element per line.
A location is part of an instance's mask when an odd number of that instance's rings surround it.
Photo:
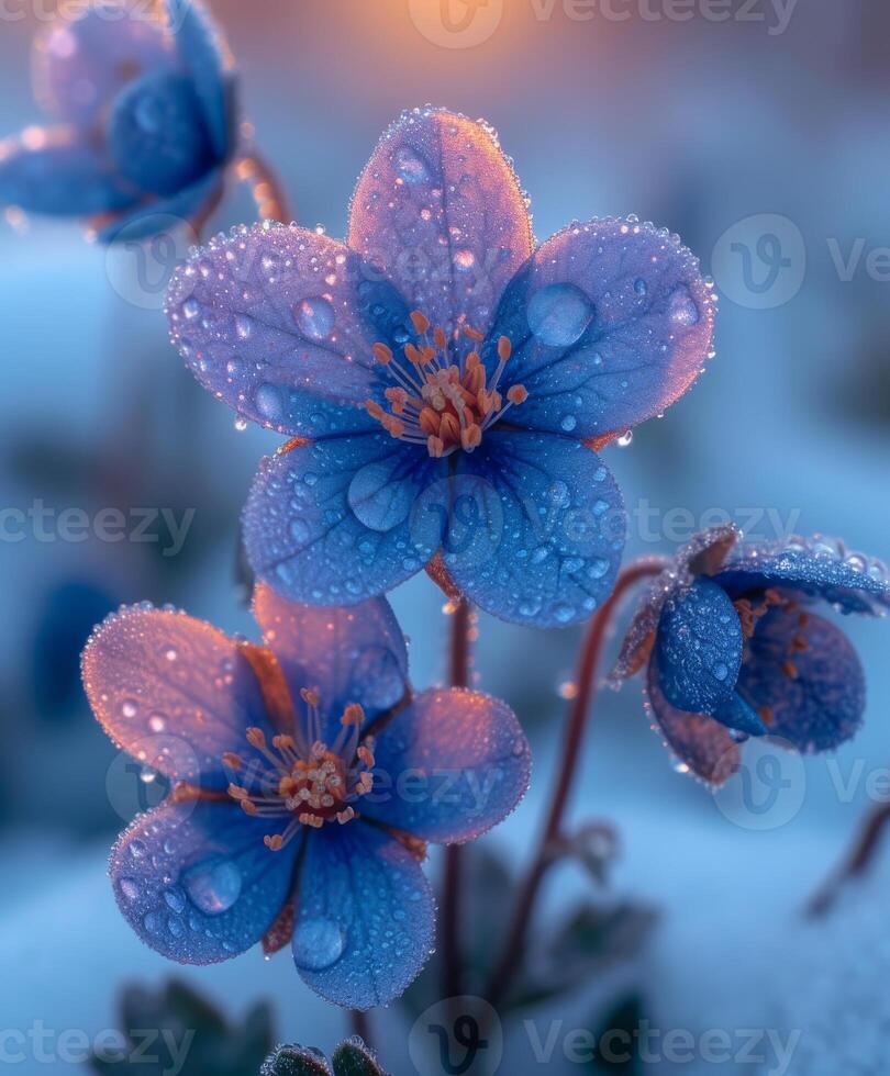
<path fill-rule="evenodd" d="M 612 625 L 613 615 L 627 592 L 641 580 L 649 575 L 657 575 L 661 567 L 650 561 L 641 561 L 637 564 L 632 564 L 630 568 L 626 568 L 619 576 L 609 601 L 590 621 L 578 668 L 578 679 L 576 681 L 578 694 L 575 696 L 569 715 L 566 739 L 563 746 L 563 762 L 558 771 L 549 815 L 547 816 L 544 831 L 541 834 L 537 853 L 532 861 L 529 874 L 520 889 L 513 919 L 507 933 L 503 954 L 500 963 L 494 968 L 486 995 L 494 1007 L 497 1007 L 498 1001 L 501 1000 L 509 989 L 513 976 L 522 965 L 529 924 L 532 919 L 532 912 L 534 911 L 541 884 L 544 881 L 548 867 L 555 861 L 555 847 L 558 845 L 561 837 L 563 818 L 566 812 L 566 806 L 578 765 L 581 761 L 585 730 L 587 729 L 591 703 L 597 688 L 597 671 L 603 646 L 609 635 L 609 628 Z"/>

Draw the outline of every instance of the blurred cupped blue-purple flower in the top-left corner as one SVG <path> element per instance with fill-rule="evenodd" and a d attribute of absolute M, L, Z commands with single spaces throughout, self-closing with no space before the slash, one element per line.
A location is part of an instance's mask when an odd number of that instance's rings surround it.
<path fill-rule="evenodd" d="M 0 143 L 0 202 L 97 217 L 99 238 L 152 235 L 219 198 L 235 145 L 227 49 L 200 0 L 94 0 L 35 43 L 35 91 L 57 121 Z"/>

